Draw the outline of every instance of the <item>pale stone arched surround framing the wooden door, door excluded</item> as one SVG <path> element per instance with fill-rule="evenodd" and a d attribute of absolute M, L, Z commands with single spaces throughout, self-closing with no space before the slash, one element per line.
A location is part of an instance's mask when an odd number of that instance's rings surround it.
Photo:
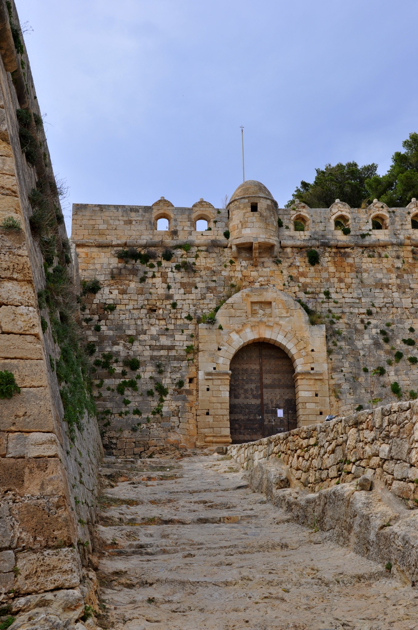
<path fill-rule="evenodd" d="M 198 444 L 229 444 L 230 361 L 253 341 L 278 345 L 291 358 L 298 427 L 329 413 L 325 326 L 311 326 L 300 304 L 282 291 L 244 289 L 223 304 L 215 326 L 199 326 Z"/>

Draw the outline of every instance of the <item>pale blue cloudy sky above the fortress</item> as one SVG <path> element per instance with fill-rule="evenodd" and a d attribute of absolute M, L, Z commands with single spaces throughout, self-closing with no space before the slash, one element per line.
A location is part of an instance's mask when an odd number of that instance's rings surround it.
<path fill-rule="evenodd" d="M 327 163 L 384 173 L 418 131 L 416 0 L 16 6 L 68 231 L 72 203 L 220 207 L 242 181 L 240 125 L 246 179 L 281 207 Z"/>

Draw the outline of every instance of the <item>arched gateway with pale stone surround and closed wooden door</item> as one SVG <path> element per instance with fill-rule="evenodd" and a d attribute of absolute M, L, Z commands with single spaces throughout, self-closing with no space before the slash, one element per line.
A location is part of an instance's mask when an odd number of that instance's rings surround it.
<path fill-rule="evenodd" d="M 242 289 L 217 326 L 199 324 L 198 362 L 199 445 L 256 440 L 329 413 L 325 326 L 274 287 Z"/>

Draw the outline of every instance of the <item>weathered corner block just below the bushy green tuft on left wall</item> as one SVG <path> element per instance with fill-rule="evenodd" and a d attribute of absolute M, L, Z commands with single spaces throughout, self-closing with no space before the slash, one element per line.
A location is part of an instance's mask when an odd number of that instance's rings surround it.
<path fill-rule="evenodd" d="M 47 387 L 25 387 L 0 405 L 0 431 L 54 431 Z"/>

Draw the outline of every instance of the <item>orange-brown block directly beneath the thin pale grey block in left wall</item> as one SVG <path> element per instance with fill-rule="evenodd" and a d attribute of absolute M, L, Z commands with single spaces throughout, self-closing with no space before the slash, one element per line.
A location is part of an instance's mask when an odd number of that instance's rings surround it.
<path fill-rule="evenodd" d="M 58 457 L 40 459 L 0 458 L 0 492 L 18 496 L 62 496 L 65 471 Z"/>

